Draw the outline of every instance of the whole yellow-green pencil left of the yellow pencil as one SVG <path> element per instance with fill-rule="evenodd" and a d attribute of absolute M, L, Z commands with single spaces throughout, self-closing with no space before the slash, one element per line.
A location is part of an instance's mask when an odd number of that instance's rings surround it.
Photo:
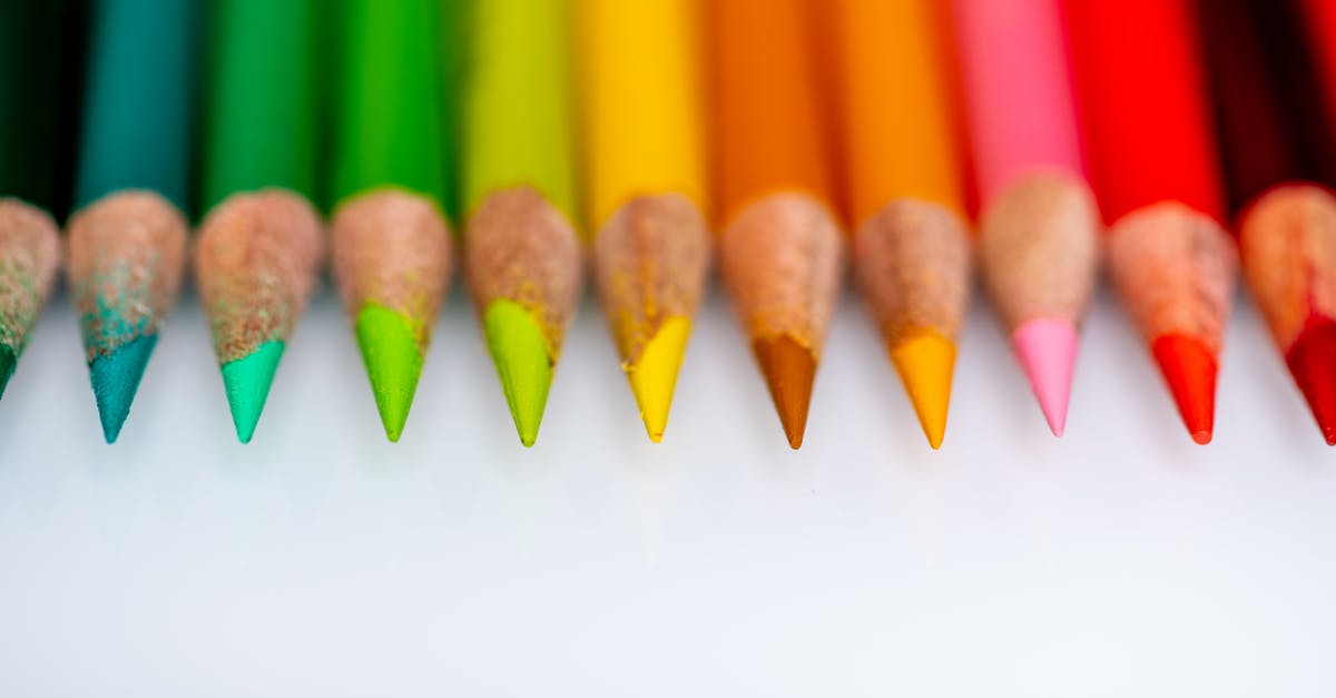
<path fill-rule="evenodd" d="M 533 445 L 581 285 L 565 0 L 470 8 L 464 265 L 520 441 Z"/>

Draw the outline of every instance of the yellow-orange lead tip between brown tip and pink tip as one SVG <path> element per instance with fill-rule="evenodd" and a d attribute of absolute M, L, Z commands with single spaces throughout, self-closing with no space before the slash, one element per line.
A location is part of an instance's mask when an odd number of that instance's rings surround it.
<path fill-rule="evenodd" d="M 955 342 L 935 332 L 923 332 L 891 348 L 891 362 L 914 404 L 929 445 L 934 451 L 941 448 L 951 405 Z"/>

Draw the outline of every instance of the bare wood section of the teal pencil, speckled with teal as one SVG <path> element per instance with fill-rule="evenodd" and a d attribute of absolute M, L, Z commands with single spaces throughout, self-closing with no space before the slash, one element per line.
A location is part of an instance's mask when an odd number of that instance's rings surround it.
<path fill-rule="evenodd" d="M 155 334 L 186 271 L 186 217 L 160 194 L 119 191 L 69 221 L 68 273 L 87 360 Z"/>

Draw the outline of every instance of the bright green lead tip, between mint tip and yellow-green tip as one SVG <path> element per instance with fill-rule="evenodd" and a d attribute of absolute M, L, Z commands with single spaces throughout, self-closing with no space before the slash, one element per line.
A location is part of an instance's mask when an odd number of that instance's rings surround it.
<path fill-rule="evenodd" d="M 415 324 L 383 305 L 366 304 L 353 325 L 385 436 L 398 441 L 422 374 L 422 349 Z"/>

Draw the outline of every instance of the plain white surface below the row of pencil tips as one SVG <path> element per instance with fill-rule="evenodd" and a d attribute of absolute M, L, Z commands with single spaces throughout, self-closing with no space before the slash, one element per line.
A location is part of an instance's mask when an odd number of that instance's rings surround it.
<path fill-rule="evenodd" d="M 1066 439 L 975 300 L 933 452 L 846 293 L 787 448 L 725 301 L 664 444 L 587 302 L 536 448 L 456 289 L 385 441 L 326 289 L 250 447 L 198 301 L 103 445 L 57 297 L 0 401 L 0 695 L 1336 694 L 1336 452 L 1242 298 L 1192 444 L 1105 293 Z"/>

